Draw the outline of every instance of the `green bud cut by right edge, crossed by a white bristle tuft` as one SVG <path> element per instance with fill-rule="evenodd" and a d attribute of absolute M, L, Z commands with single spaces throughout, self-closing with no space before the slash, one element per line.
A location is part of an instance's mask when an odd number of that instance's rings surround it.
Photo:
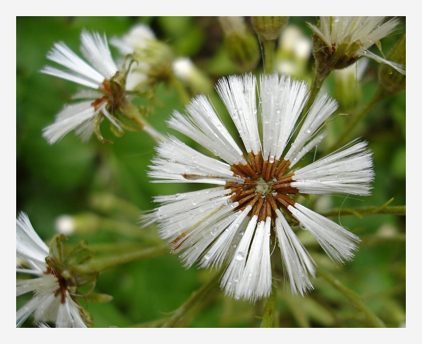
<path fill-rule="evenodd" d="M 406 35 L 404 34 L 396 42 L 388 53 L 387 60 L 406 66 Z M 393 67 L 382 64 L 378 70 L 378 79 L 382 88 L 391 95 L 395 95 L 406 89 L 406 75 L 397 72 Z"/>

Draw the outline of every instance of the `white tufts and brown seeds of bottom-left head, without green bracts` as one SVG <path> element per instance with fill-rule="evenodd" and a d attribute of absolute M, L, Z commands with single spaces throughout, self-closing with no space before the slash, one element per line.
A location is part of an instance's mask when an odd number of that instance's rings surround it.
<path fill-rule="evenodd" d="M 56 327 L 87 327 L 66 282 L 46 263 L 46 257 L 50 256 L 49 247 L 35 232 L 24 213 L 16 219 L 16 256 L 29 266 L 29 269 L 17 267 L 17 272 L 37 276 L 16 280 L 16 296 L 30 292 L 34 294 L 16 312 L 16 326 L 21 326 L 33 314 L 35 323 L 41 325 L 54 323 Z"/>

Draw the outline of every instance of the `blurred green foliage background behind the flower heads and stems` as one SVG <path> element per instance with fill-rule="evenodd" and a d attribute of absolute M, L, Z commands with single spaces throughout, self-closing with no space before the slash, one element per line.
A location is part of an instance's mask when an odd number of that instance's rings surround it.
<path fill-rule="evenodd" d="M 306 22 L 316 17 L 292 17 L 310 37 Z M 90 214 L 100 219 L 119 221 L 131 227 L 118 233 L 111 222 L 102 222 L 99 230 L 69 238 L 71 245 L 81 240 L 95 247 L 101 243 L 137 243 L 144 239 L 137 234 L 139 211 L 153 208 L 152 197 L 194 190 L 200 186 L 153 184 L 146 171 L 154 153 L 154 142 L 144 133 L 126 132 L 113 138 L 106 125 L 103 136 L 113 144 L 100 144 L 95 137 L 83 144 L 74 133 L 49 146 L 42 138 L 42 129 L 76 92 L 77 86 L 66 80 L 39 73 L 49 61 L 45 55 L 54 42 L 63 41 L 79 53 L 79 34 L 83 28 L 105 32 L 108 38 L 122 36 L 132 25 L 151 26 L 158 39 L 167 42 L 177 56 L 189 56 L 214 83 L 220 76 L 239 73 L 227 56 L 223 33 L 216 17 L 17 17 L 17 211 L 25 211 L 44 240 L 54 232 L 54 223 L 63 214 Z M 405 20 L 397 32 L 382 41 L 388 52 L 402 33 Z M 378 53 L 376 49 L 372 49 Z M 117 51 L 112 48 L 114 56 Z M 309 75 L 312 66 L 309 60 Z M 369 62 L 362 79 L 356 83 L 356 95 L 368 101 L 377 86 L 378 64 Z M 259 73 L 260 70 L 254 71 Z M 336 97 L 335 75 L 326 80 L 326 91 Z M 213 96 L 214 97 L 214 96 Z M 341 97 L 341 95 L 340 95 Z M 214 97 L 215 98 L 215 97 Z M 165 120 L 174 109 L 183 105 L 174 90 L 161 83 L 157 90 L 159 103 L 148 118 L 159 131 L 166 133 Z M 340 99 L 339 99 L 340 100 Z M 358 104 L 352 104 L 351 111 Z M 221 104 L 216 107 L 222 109 Z M 340 108 L 338 113 L 350 109 Z M 220 112 L 222 117 L 227 116 Z M 347 122 L 341 117 L 329 123 L 334 140 Z M 317 208 L 405 205 L 405 92 L 384 100 L 366 118 L 359 135 L 373 151 L 375 180 L 370 197 L 319 197 Z M 312 154 L 311 154 L 312 155 Z M 308 159 L 313 159 L 309 157 Z M 107 197 L 117 197 L 133 205 L 122 209 L 107 207 Z M 308 200 L 308 201 L 312 201 Z M 132 210 L 133 209 L 133 210 Z M 334 216 L 359 235 L 363 242 L 353 262 L 332 265 L 322 250 L 312 247 L 318 262 L 343 284 L 364 297 L 367 305 L 387 326 L 403 326 L 405 321 L 405 217 L 394 215 Z M 303 238 L 306 241 L 306 238 Z M 160 257 L 126 264 L 102 273 L 96 291 L 112 295 L 108 303 L 89 302 L 82 305 L 93 315 L 96 327 L 132 326 L 166 317 L 210 278 L 209 271 L 196 267 L 185 270 L 178 258 Z M 281 326 L 360 327 L 362 315 L 348 300 L 323 279 L 314 280 L 315 291 L 309 296 L 289 296 L 280 292 Z M 30 295 L 17 299 L 17 306 Z M 243 327 L 259 326 L 261 307 L 225 297 L 218 288 L 199 305 L 198 315 L 185 319 L 183 326 Z M 25 323 L 31 326 L 30 321 Z"/>

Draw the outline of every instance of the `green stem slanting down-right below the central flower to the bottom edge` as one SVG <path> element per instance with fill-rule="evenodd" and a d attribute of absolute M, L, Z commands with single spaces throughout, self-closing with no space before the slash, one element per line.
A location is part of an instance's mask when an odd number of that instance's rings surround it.
<path fill-rule="evenodd" d="M 343 285 L 337 278 L 333 277 L 328 272 L 317 268 L 317 274 L 323 277 L 328 283 L 330 283 L 335 289 L 337 289 L 341 294 L 343 294 L 348 300 L 355 306 L 358 310 L 360 310 L 363 314 L 365 314 L 366 318 L 368 319 L 369 323 L 372 327 L 386 327 L 384 322 L 379 319 L 371 309 L 363 301 L 362 297 L 356 294 L 354 291 L 348 289 L 345 285 Z"/>

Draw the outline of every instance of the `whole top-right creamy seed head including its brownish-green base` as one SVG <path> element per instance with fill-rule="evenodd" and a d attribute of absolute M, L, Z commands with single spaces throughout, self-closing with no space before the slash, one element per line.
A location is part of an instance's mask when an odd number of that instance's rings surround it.
<path fill-rule="evenodd" d="M 314 56 L 317 68 L 324 72 L 343 69 L 367 56 L 387 64 L 402 74 L 405 67 L 374 54 L 369 48 L 396 29 L 394 17 L 320 17 L 314 31 Z"/>

